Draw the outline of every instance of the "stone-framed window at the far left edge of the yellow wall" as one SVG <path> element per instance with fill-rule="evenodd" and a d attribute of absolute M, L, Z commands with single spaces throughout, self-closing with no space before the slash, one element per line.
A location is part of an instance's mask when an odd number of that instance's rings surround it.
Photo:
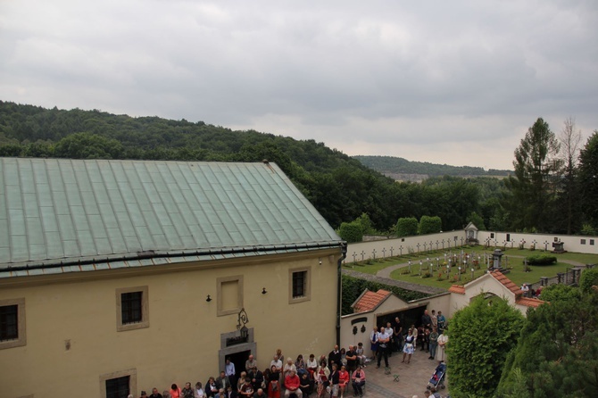
<path fill-rule="evenodd" d="M 26 344 L 25 299 L 0 300 L 0 350 Z"/>

